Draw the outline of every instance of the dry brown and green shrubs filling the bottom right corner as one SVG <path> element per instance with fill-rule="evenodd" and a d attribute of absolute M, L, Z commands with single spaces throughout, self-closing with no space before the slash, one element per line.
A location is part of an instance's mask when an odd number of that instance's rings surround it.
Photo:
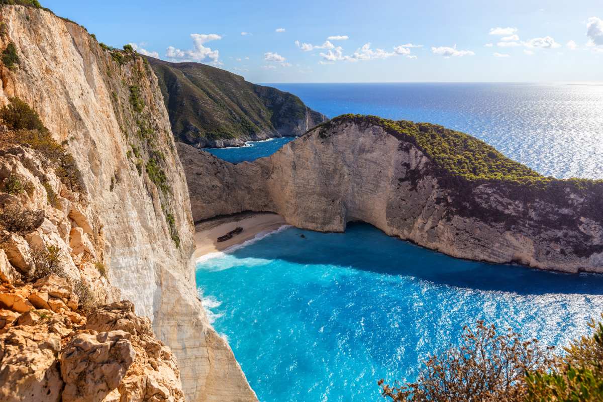
<path fill-rule="evenodd" d="M 457 347 L 424 363 L 414 383 L 378 384 L 393 402 L 603 401 L 603 325 L 552 354 L 535 339 L 500 334 L 478 321 L 464 328 Z"/>

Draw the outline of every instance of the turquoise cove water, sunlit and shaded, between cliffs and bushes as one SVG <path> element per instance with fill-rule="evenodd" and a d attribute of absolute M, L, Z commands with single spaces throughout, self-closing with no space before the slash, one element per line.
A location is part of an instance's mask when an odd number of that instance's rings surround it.
<path fill-rule="evenodd" d="M 286 228 L 196 279 L 262 402 L 377 401 L 379 378 L 412 380 L 477 319 L 565 345 L 603 312 L 603 275 L 453 259 L 367 224 Z"/>

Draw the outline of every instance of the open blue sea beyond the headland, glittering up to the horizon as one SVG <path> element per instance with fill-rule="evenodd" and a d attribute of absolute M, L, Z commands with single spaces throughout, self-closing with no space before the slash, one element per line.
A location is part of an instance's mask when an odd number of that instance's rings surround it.
<path fill-rule="evenodd" d="M 472 134 L 559 178 L 603 177 L 603 85 L 508 83 L 269 84 L 330 118 L 426 121 Z M 257 157 L 276 151 L 257 145 Z M 229 160 L 230 152 L 221 157 Z"/>

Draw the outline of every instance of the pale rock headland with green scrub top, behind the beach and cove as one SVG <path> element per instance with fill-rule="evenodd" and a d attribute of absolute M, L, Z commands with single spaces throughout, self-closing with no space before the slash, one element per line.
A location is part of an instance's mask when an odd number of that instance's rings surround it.
<path fill-rule="evenodd" d="M 603 183 L 541 177 L 439 126 L 336 118 L 238 165 L 178 147 L 195 221 L 245 210 L 319 231 L 364 221 L 454 257 L 603 272 Z"/>

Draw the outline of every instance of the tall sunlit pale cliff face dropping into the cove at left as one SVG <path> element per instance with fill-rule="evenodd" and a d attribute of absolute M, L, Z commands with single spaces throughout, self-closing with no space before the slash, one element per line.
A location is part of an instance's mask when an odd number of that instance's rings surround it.
<path fill-rule="evenodd" d="M 150 66 L 48 11 L 3 6 L 0 18 L 19 59 L 1 68 L 0 102 L 33 105 L 74 155 L 112 285 L 171 347 L 188 400 L 256 400 L 197 298 L 188 189 Z"/>

